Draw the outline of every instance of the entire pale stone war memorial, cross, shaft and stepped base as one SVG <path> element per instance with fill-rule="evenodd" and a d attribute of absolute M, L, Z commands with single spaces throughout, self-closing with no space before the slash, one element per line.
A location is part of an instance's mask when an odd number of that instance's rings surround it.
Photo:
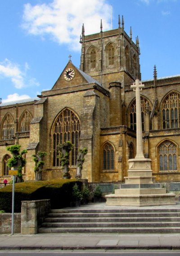
<path fill-rule="evenodd" d="M 142 145 L 142 123 L 140 110 L 140 90 L 142 85 L 139 80 L 131 88 L 136 91 L 136 156 L 129 160 L 128 177 L 120 189 L 115 189 L 114 194 L 106 195 L 108 206 L 162 206 L 174 205 L 175 194 L 166 193 L 166 188 L 160 188 L 160 183 L 155 183 L 152 175 L 151 159 L 144 158 Z"/>

